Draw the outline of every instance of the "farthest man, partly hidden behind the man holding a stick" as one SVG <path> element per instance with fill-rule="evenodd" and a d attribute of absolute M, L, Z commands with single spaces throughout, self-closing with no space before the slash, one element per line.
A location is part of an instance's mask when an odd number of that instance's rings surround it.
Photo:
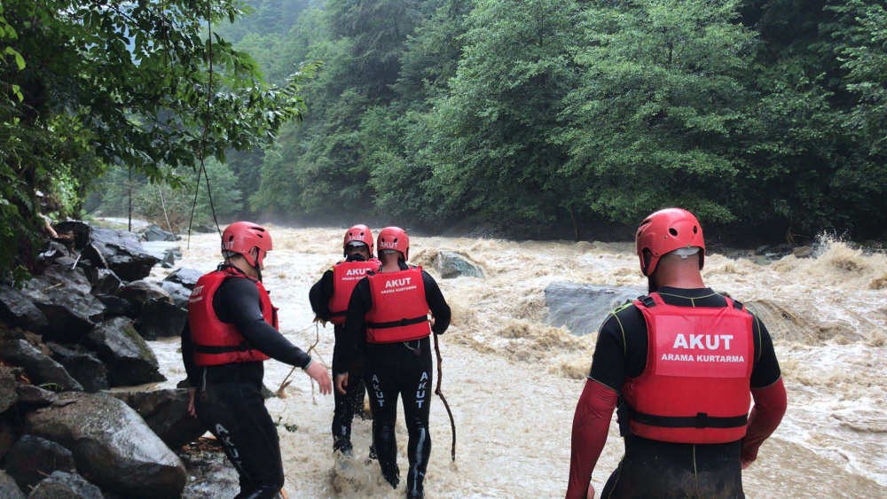
<path fill-rule="evenodd" d="M 308 298 L 314 310 L 315 322 L 326 327 L 333 323 L 335 347 L 333 349 L 333 372 L 338 372 L 341 357 L 341 331 L 345 324 L 345 313 L 348 311 L 348 300 L 357 281 L 364 278 L 370 270 L 379 270 L 380 261 L 373 257 L 373 232 L 365 225 L 355 225 L 345 232 L 342 243 L 345 261 L 336 263 L 324 272 L 317 284 L 311 286 Z M 364 380 L 361 378 L 359 358 L 350 365 L 350 378 L 357 380 L 351 383 L 346 394 L 334 392 L 335 409 L 333 414 L 333 450 L 351 454 L 351 421 L 355 414 L 364 409 L 366 393 Z"/>

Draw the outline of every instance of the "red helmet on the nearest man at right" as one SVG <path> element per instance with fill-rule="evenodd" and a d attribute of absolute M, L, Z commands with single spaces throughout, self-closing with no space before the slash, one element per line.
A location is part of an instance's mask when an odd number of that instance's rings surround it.
<path fill-rule="evenodd" d="M 640 222 L 638 236 L 635 240 L 640 270 L 650 276 L 656 269 L 659 259 L 666 253 L 681 248 L 700 248 L 699 269 L 705 262 L 705 241 L 703 226 L 694 214 L 680 208 L 665 208 L 650 214 Z M 645 258 L 646 254 L 646 258 Z"/>

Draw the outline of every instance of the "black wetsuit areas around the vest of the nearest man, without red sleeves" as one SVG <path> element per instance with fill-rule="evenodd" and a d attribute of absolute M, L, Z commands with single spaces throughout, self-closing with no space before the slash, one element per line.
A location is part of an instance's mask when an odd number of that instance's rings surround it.
<path fill-rule="evenodd" d="M 710 289 L 659 290 L 663 301 L 678 307 L 726 307 Z M 753 322 L 755 363 L 750 388 L 771 386 L 781 377 L 773 340 L 763 323 Z M 589 378 L 622 391 L 625 378 L 646 369 L 647 323 L 633 305 L 617 309 L 600 328 Z M 742 492 L 742 441 L 724 444 L 680 444 L 624 436 L 625 456 L 600 493 L 603 499 L 738 499 Z"/>

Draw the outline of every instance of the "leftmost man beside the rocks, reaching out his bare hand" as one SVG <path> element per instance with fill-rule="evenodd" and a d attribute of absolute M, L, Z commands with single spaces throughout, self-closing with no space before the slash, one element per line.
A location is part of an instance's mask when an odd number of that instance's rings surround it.
<path fill-rule="evenodd" d="M 284 485 L 277 429 L 262 396 L 263 361 L 305 370 L 332 391 L 326 368 L 278 331 L 277 308 L 262 285 L 271 234 L 250 222 L 222 234 L 224 262 L 200 277 L 188 300 L 182 360 L 191 386 L 192 414 L 222 444 L 239 473 L 236 499 L 275 497 Z"/>

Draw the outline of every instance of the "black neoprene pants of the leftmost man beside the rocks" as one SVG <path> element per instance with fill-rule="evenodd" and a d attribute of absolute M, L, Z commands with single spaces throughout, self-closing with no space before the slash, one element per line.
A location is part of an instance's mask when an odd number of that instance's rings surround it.
<path fill-rule="evenodd" d="M 234 499 L 271 499 L 283 488 L 284 474 L 277 428 L 262 398 L 262 371 L 225 368 L 224 381 L 208 376 L 204 387 L 201 380 L 194 409 L 239 473 Z"/>

